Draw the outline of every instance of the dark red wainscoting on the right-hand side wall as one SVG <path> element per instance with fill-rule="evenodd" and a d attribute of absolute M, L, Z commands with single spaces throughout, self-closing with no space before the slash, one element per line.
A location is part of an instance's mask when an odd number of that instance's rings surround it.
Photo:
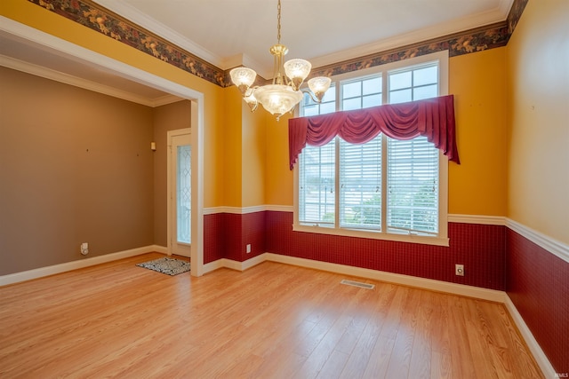
<path fill-rule="evenodd" d="M 569 264 L 506 233 L 506 291 L 557 373 L 569 373 Z"/>

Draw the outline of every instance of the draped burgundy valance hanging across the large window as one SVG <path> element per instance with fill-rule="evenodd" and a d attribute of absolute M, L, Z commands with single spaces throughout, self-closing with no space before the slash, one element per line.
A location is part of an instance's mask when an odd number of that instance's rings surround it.
<path fill-rule="evenodd" d="M 448 95 L 290 119 L 288 151 L 291 170 L 307 144 L 324 146 L 336 136 L 352 144 L 363 144 L 381 132 L 396 139 L 427 137 L 449 161 L 461 163 L 454 131 L 454 97 Z"/>

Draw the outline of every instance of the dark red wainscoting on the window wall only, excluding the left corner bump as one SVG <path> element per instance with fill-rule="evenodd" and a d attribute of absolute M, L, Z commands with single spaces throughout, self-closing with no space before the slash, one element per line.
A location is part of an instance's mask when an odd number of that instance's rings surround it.
<path fill-rule="evenodd" d="M 267 212 L 267 251 L 471 286 L 504 289 L 505 227 L 449 224 L 450 247 L 293 232 L 292 212 Z M 454 274 L 462 264 L 465 276 Z"/>

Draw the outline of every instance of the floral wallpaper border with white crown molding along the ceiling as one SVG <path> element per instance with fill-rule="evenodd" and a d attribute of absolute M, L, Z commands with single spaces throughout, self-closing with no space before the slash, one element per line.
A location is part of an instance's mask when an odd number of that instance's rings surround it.
<path fill-rule="evenodd" d="M 28 1 L 98 32 L 101 32 L 100 25 L 91 20 L 87 14 L 100 13 L 105 16 L 105 28 L 116 30 L 115 36 L 109 37 L 116 38 L 123 43 L 128 41 L 129 45 L 153 55 L 156 59 L 163 59 L 175 67 L 221 87 L 231 85 L 228 75 L 230 67 L 228 66 L 241 66 L 236 64 L 239 54 L 224 61 L 223 58 L 212 54 L 203 46 L 180 36 L 171 28 L 158 24 L 156 20 L 152 20 L 124 2 L 77 0 L 72 6 L 64 0 L 52 0 L 49 4 L 42 0 Z M 480 12 L 475 16 L 455 20 L 438 27 L 414 31 L 381 43 L 366 44 L 338 54 L 313 58 L 311 59 L 313 67 L 317 69 L 314 69 L 312 75 L 338 75 L 435 51 L 448 50 L 449 55 L 453 57 L 505 46 L 523 12 L 525 3 L 527 0 L 501 0 L 499 6 L 489 12 Z M 120 16 L 119 13 L 128 15 L 128 19 Z M 497 22 L 496 20 L 502 21 Z M 462 22 L 464 24 L 461 24 Z M 480 25 L 483 26 L 480 27 Z M 473 26 L 474 29 L 472 29 Z M 457 30 L 462 31 L 457 33 Z M 448 33 L 453 34 L 447 35 Z M 148 46 L 148 39 L 153 41 L 151 46 Z M 241 55 L 243 60 L 247 60 L 244 54 Z M 346 60 L 347 57 L 351 57 L 350 61 Z M 327 67 L 326 63 L 328 63 Z M 254 62 L 244 64 L 247 67 L 257 67 Z M 325 72 L 319 72 L 323 70 Z M 260 72 L 260 76 L 269 77 L 270 75 Z"/>

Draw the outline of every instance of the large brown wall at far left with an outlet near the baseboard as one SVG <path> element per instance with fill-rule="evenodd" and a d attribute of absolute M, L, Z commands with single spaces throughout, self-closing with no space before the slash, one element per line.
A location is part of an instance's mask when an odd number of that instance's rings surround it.
<path fill-rule="evenodd" d="M 154 110 L 4 67 L 0 83 L 0 275 L 84 259 L 84 241 L 153 244 Z"/>

